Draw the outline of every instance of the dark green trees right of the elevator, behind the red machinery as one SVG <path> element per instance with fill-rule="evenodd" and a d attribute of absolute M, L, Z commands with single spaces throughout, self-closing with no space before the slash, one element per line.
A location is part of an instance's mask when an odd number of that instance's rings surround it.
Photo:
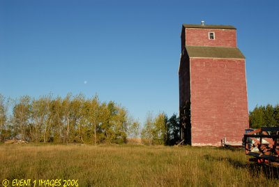
<path fill-rule="evenodd" d="M 279 127 L 279 104 L 256 106 L 249 112 L 250 128 Z"/>

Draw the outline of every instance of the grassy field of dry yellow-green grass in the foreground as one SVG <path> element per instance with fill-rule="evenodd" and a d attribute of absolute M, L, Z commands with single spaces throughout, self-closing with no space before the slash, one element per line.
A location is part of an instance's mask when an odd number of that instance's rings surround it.
<path fill-rule="evenodd" d="M 241 150 L 133 145 L 0 145 L 3 179 L 75 179 L 78 186 L 279 186 L 278 168 Z"/>

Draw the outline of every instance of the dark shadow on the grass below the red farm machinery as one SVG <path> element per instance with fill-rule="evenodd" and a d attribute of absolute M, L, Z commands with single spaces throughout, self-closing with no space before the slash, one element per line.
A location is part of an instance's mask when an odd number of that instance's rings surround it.
<path fill-rule="evenodd" d="M 211 162 L 217 161 L 223 161 L 227 162 L 236 169 L 247 169 L 249 172 L 254 175 L 255 177 L 258 177 L 261 174 L 264 174 L 264 176 L 267 179 L 279 179 L 279 166 L 274 165 L 267 165 L 267 164 L 257 164 L 257 163 L 243 163 L 239 160 L 234 160 L 233 158 L 228 157 L 215 157 L 211 155 L 205 155 L 204 158 L 206 160 L 209 160 Z"/>

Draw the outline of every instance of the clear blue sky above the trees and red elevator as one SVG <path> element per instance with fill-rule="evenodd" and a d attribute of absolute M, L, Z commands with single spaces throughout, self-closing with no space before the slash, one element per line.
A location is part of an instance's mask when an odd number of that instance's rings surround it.
<path fill-rule="evenodd" d="M 98 93 L 144 122 L 179 112 L 181 24 L 231 24 L 248 108 L 279 103 L 279 1 L 0 0 L 0 93 Z M 86 84 L 84 84 L 86 82 Z"/>

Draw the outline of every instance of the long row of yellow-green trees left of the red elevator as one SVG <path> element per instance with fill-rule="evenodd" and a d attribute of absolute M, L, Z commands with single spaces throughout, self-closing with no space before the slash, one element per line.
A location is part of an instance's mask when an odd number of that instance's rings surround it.
<path fill-rule="evenodd" d="M 0 94 L 0 140 L 121 144 L 127 137 L 141 135 L 150 144 L 174 144 L 179 137 L 178 117 L 174 114 L 167 119 L 162 113 L 153 119 L 149 114 L 141 130 L 140 122 L 125 107 L 114 101 L 100 102 L 98 96 L 68 93 L 65 98 L 22 96 L 12 100 Z"/>

